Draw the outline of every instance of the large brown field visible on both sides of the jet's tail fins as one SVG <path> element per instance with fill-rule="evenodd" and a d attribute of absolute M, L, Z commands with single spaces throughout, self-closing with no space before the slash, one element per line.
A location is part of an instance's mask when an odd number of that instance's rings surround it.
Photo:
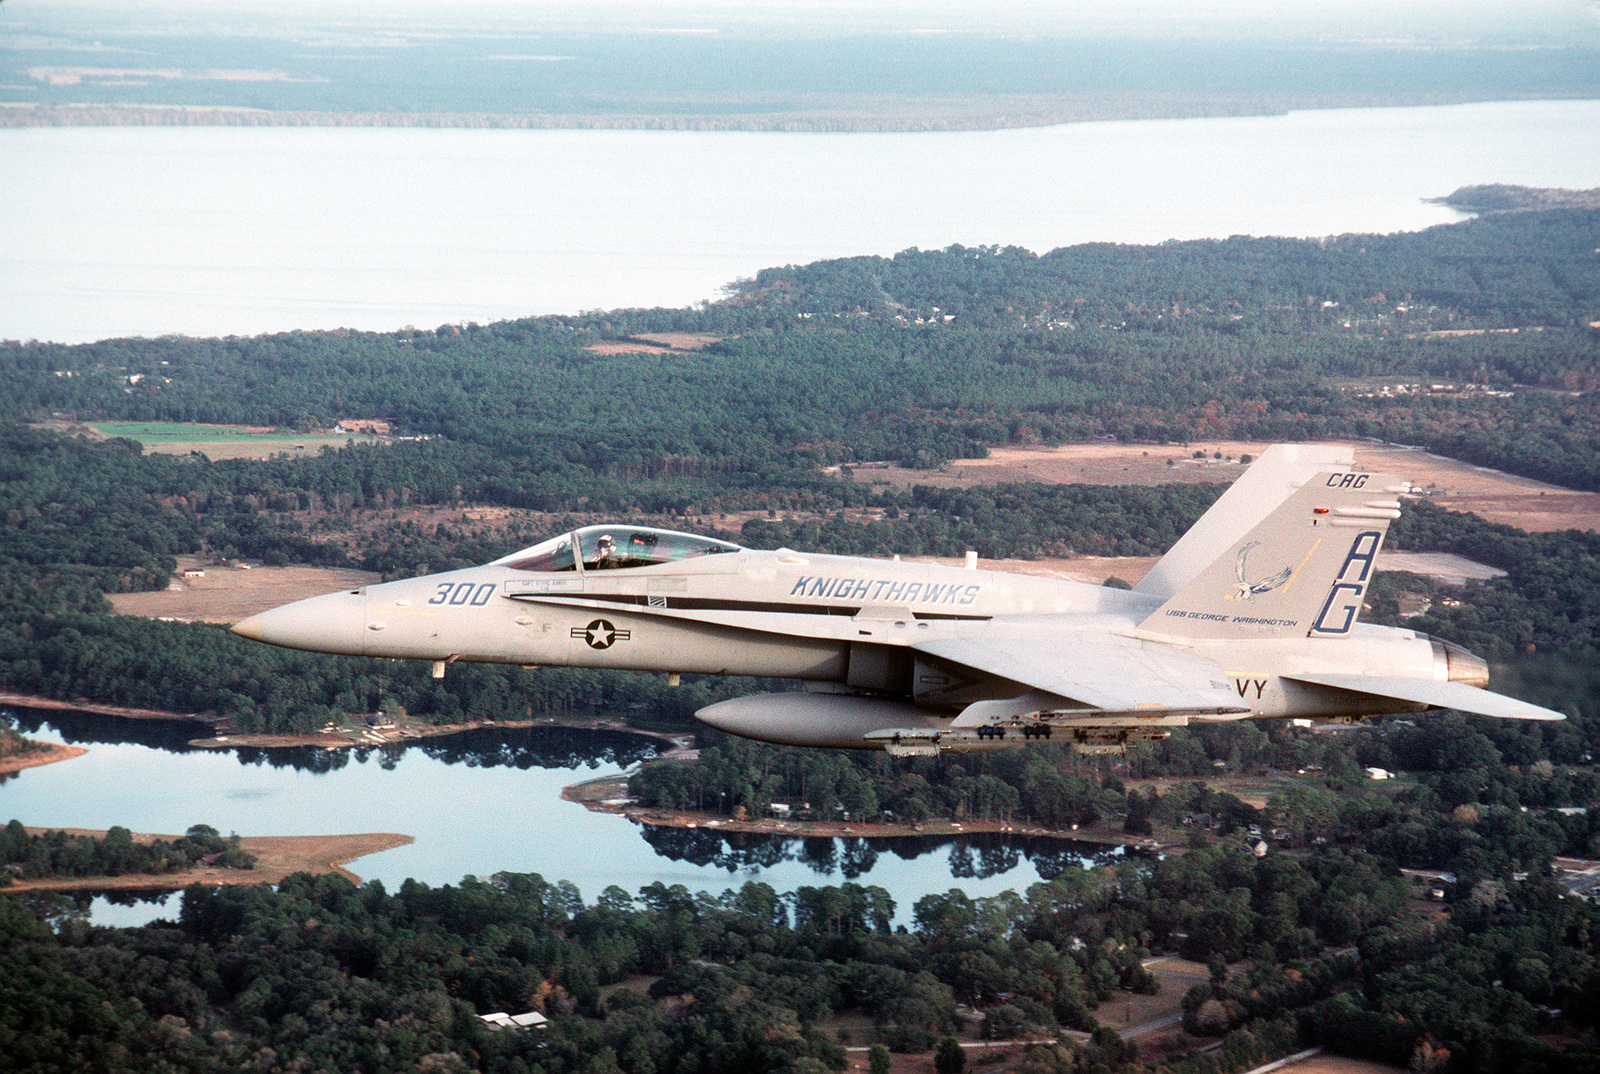
<path fill-rule="evenodd" d="M 1232 482 L 1245 472 L 1242 456 L 1256 458 L 1266 442 L 1206 440 L 1182 447 L 1069 443 L 1058 448 L 990 448 L 986 459 L 954 459 L 939 471 L 898 466 L 854 467 L 864 485 L 968 488 L 1008 482 L 1078 485 L 1171 485 Z M 1530 533 L 1600 528 L 1600 495 L 1546 485 L 1421 448 L 1355 442 L 1357 466 L 1410 480 L 1451 511 L 1470 511 Z M 1194 458 L 1200 453 L 1202 458 Z M 1218 458 L 1221 456 L 1221 458 Z M 1130 579 L 1131 581 L 1131 579 Z"/>

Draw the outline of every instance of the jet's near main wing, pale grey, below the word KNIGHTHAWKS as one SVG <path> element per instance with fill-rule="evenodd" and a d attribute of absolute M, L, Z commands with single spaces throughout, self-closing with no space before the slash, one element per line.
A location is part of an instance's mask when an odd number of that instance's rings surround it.
<path fill-rule="evenodd" d="M 1085 709 L 1147 715 L 1250 711 L 1214 661 L 1176 648 L 1149 648 L 1115 634 L 930 639 L 912 650 Z"/>

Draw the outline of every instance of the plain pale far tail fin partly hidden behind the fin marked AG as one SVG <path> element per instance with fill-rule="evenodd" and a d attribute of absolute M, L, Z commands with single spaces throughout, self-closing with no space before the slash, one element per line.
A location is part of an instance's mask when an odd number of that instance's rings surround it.
<path fill-rule="evenodd" d="M 1187 533 L 1178 538 L 1178 544 L 1139 579 L 1134 591 L 1152 597 L 1171 597 L 1211 565 L 1219 547 L 1227 547 L 1250 533 L 1296 488 L 1320 472 L 1354 464 L 1355 451 L 1349 445 L 1274 443 Z"/>

